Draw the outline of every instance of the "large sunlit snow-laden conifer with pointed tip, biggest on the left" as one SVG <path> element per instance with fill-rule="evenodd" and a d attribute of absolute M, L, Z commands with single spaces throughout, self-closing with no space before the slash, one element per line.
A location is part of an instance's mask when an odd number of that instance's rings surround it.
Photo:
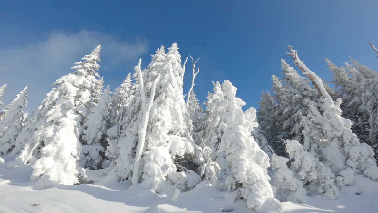
<path fill-rule="evenodd" d="M 82 62 L 75 63 L 72 74 L 55 81 L 52 86 L 57 88 L 47 94 L 22 134 L 30 136 L 27 141 L 20 141 L 24 148 L 15 162 L 32 163 L 31 179 L 39 179 L 42 186 L 79 182 L 76 166 L 81 149 L 81 124 L 88 116 L 88 109 L 95 106 L 93 94 L 98 91 L 93 89 L 99 82 L 96 78 L 99 52 L 100 45 L 84 56 Z"/>

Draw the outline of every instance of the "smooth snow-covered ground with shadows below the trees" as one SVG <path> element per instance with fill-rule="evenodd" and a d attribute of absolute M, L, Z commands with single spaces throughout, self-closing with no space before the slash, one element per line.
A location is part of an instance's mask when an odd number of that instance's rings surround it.
<path fill-rule="evenodd" d="M 116 182 L 111 178 L 97 184 L 60 185 L 38 189 L 30 181 L 29 165 L 7 169 L 0 164 L 0 212 L 75 213 L 248 213 L 244 200 L 234 202 L 232 193 L 222 192 L 203 182 L 193 190 L 180 193 L 156 194 L 150 190 L 130 186 L 130 182 Z M 311 196 L 306 204 L 281 203 L 285 212 L 304 213 L 378 213 L 378 182 L 358 176 L 354 186 L 344 187 L 338 200 Z"/>

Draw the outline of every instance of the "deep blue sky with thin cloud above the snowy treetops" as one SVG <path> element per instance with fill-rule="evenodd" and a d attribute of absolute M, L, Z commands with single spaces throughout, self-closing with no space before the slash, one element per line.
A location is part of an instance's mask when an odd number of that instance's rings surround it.
<path fill-rule="evenodd" d="M 279 75 L 286 45 L 321 78 L 324 58 L 349 57 L 376 69 L 368 41 L 378 46 L 378 1 L 3 1 L 0 7 L 0 86 L 10 103 L 28 85 L 29 112 L 60 76 L 102 44 L 100 75 L 112 89 L 142 58 L 177 42 L 182 61 L 200 58 L 194 90 L 201 101 L 212 81 L 230 80 L 246 107 Z M 187 64 L 188 65 L 188 64 Z M 187 66 L 184 93 L 189 90 Z M 244 108 L 246 109 L 246 108 Z"/>

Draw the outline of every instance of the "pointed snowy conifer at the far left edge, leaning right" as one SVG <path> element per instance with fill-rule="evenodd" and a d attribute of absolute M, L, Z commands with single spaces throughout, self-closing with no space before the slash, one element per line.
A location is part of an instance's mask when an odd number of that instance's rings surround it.
<path fill-rule="evenodd" d="M 4 88 L 4 86 L 2 88 Z M 28 117 L 28 114 L 22 110 L 24 107 L 26 107 L 27 103 L 27 88 L 28 87 L 25 87 L 20 94 L 16 96 L 0 120 L 1 155 L 7 155 L 12 151 L 12 149 L 14 149 L 16 138 L 21 132 L 21 128 L 26 121 L 26 117 Z"/>

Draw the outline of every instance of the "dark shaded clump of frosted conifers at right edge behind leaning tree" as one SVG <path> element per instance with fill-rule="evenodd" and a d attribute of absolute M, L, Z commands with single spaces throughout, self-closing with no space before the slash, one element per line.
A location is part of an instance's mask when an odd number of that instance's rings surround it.
<path fill-rule="evenodd" d="M 326 62 L 333 74 L 336 97 L 342 98 L 343 116 L 353 122 L 352 131 L 359 140 L 378 153 L 378 74 L 355 60 L 342 67 Z"/>

